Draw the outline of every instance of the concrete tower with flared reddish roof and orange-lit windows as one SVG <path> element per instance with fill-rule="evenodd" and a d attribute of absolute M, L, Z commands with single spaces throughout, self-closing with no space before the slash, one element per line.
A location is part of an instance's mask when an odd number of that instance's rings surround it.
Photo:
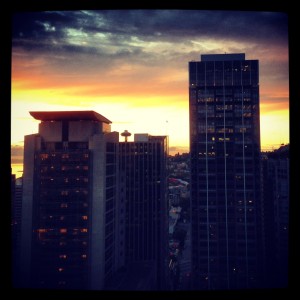
<path fill-rule="evenodd" d="M 102 289 L 121 264 L 119 134 L 94 111 L 30 112 L 21 231 L 23 287 Z"/>

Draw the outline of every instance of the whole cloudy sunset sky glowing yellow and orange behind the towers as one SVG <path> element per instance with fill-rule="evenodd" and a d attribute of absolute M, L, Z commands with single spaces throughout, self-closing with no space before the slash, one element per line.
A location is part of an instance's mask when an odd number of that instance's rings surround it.
<path fill-rule="evenodd" d="M 94 110 L 112 121 L 112 131 L 168 135 L 170 154 L 188 152 L 188 62 L 201 54 L 259 60 L 261 148 L 289 143 L 282 12 L 21 12 L 12 29 L 13 173 L 22 169 L 24 136 L 38 132 L 29 111 Z"/>

